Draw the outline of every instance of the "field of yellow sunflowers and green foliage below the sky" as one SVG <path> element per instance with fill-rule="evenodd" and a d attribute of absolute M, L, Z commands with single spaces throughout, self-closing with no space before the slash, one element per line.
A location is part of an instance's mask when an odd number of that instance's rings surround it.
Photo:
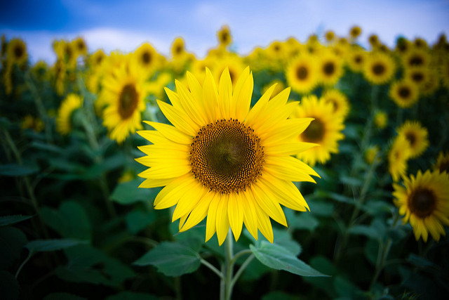
<path fill-rule="evenodd" d="M 447 299 L 449 44 L 360 34 L 3 35 L 0 298 Z"/>

